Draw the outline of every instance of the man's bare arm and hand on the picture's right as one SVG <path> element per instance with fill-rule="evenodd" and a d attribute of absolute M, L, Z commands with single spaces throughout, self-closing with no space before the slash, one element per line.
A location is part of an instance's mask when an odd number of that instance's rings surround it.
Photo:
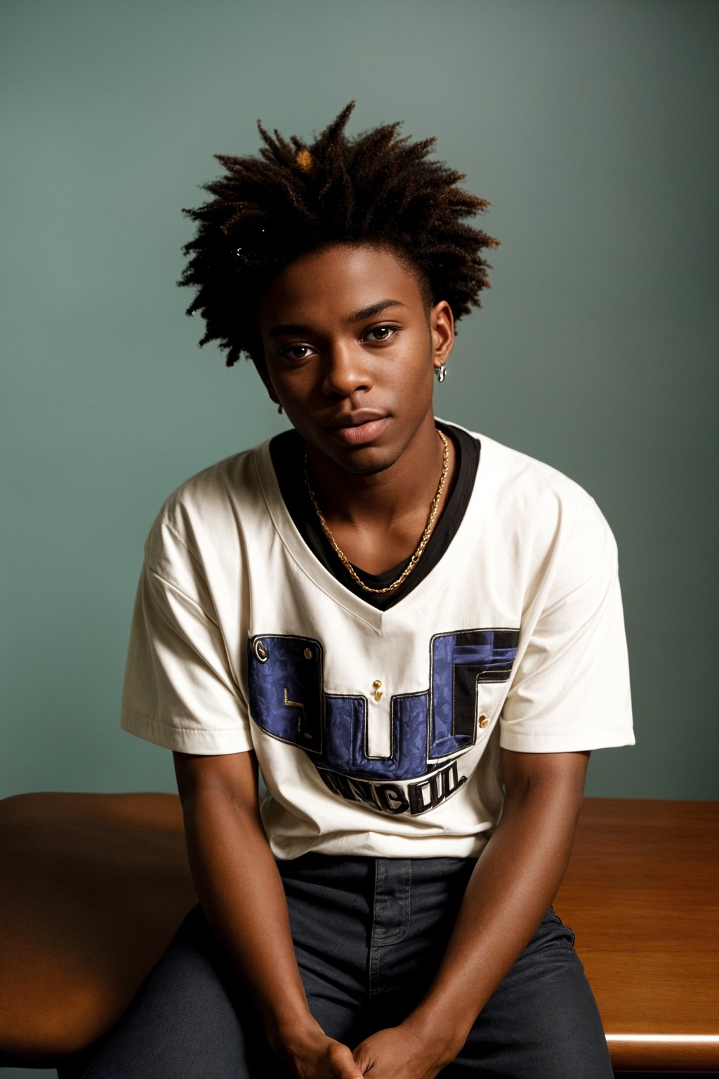
<path fill-rule="evenodd" d="M 565 874 L 589 753 L 501 751 L 501 820 L 470 877 L 440 969 L 400 1026 L 355 1050 L 372 1079 L 432 1079 L 531 939 Z"/>

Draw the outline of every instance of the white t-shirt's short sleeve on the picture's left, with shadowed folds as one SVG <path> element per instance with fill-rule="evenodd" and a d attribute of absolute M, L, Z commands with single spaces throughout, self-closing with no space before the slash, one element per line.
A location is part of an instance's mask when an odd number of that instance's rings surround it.
<path fill-rule="evenodd" d="M 121 726 L 182 753 L 252 748 L 203 566 L 162 517 L 146 544 L 135 600 Z"/>

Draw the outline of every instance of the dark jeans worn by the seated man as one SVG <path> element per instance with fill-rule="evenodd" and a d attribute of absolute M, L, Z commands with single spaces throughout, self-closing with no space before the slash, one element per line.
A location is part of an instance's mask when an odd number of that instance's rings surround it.
<path fill-rule="evenodd" d="M 354 1048 L 412 1011 L 437 970 L 473 868 L 472 859 L 321 855 L 279 863 L 309 1008 L 327 1034 Z M 443 1073 L 470 1074 L 611 1079 L 573 934 L 552 910 Z M 267 1075 L 289 1071 L 266 1046 L 199 906 L 84 1071 L 87 1079 Z"/>

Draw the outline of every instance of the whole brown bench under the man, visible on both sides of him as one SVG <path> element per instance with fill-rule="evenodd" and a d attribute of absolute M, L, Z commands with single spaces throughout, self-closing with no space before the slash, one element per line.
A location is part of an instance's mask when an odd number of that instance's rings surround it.
<path fill-rule="evenodd" d="M 0 880 L 0 1067 L 54 1066 L 117 1020 L 195 902 L 179 798 L 3 800 Z M 555 906 L 617 1070 L 719 1073 L 718 896 L 719 803 L 585 800 Z"/>

